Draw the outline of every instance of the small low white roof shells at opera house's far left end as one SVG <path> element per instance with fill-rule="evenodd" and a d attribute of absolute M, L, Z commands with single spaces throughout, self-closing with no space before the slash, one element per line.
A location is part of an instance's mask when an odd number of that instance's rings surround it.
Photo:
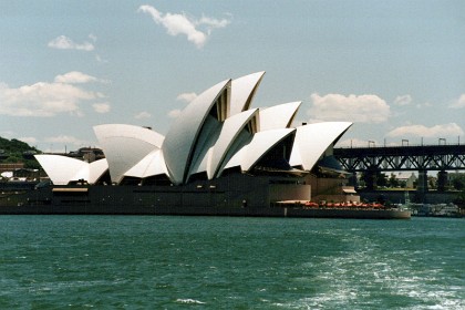
<path fill-rule="evenodd" d="M 54 185 L 66 185 L 80 179 L 94 184 L 108 168 L 106 159 L 89 164 L 76 158 L 51 154 L 35 155 L 35 159 Z"/>

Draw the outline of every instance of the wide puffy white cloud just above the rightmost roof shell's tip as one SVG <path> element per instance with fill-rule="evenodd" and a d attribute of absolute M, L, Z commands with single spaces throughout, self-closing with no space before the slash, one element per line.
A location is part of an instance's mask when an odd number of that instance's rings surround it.
<path fill-rule="evenodd" d="M 390 106 L 376 95 L 312 94 L 308 115 L 320 121 L 352 121 L 383 123 L 391 115 Z"/>

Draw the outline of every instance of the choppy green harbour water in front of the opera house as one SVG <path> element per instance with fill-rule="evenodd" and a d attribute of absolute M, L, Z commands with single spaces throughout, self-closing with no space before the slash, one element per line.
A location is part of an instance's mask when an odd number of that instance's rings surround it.
<path fill-rule="evenodd" d="M 0 309 L 465 309 L 465 220 L 1 216 Z"/>

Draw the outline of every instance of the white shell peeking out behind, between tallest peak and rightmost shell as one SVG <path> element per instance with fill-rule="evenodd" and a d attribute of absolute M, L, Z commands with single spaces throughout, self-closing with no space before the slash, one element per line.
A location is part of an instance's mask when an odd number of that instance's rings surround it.
<path fill-rule="evenodd" d="M 289 128 L 302 102 L 289 102 L 260 110 L 260 132 Z"/>

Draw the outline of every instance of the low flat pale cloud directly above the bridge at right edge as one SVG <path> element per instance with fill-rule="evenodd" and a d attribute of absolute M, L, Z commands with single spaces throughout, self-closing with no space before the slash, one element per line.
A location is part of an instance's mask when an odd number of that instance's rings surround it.
<path fill-rule="evenodd" d="M 391 137 L 446 137 L 446 136 L 459 136 L 463 135 L 464 131 L 455 123 L 435 125 L 426 127 L 424 125 L 407 125 L 397 127 L 386 134 Z"/>

